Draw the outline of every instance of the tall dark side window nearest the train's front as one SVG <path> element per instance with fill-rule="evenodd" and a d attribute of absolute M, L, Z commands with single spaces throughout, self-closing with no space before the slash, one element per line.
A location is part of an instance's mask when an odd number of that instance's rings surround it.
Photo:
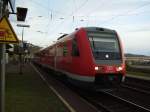
<path fill-rule="evenodd" d="M 73 39 L 72 41 L 72 56 L 79 56 L 79 48 L 77 45 L 77 40 Z"/>

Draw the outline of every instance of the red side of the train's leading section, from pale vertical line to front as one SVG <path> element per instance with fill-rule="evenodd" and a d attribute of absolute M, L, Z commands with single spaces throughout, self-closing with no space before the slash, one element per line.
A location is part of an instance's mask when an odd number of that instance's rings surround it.
<path fill-rule="evenodd" d="M 94 81 L 92 52 L 85 31 L 57 43 L 56 69 L 77 80 Z"/>

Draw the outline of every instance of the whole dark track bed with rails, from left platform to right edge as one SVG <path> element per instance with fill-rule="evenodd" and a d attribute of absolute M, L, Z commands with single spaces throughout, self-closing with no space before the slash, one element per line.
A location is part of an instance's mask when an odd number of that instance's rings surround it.
<path fill-rule="evenodd" d="M 57 77 L 55 77 L 57 79 Z M 59 81 L 64 82 L 60 78 Z M 66 83 L 66 81 L 65 81 Z M 68 85 L 66 83 L 65 85 Z M 122 85 L 114 90 L 85 91 L 69 84 L 75 93 L 96 107 L 100 112 L 150 112 L 150 94 L 138 88 Z"/>

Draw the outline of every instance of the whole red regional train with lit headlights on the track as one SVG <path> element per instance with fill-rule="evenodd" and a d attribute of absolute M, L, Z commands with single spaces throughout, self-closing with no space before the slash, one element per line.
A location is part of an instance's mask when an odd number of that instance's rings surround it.
<path fill-rule="evenodd" d="M 125 79 L 122 44 L 115 30 L 79 28 L 35 56 L 39 64 L 65 74 L 77 85 L 120 84 Z"/>

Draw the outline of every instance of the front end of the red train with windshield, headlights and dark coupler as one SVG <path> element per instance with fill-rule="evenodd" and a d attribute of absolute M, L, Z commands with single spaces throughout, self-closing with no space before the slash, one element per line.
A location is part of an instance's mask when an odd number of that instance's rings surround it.
<path fill-rule="evenodd" d="M 88 28 L 95 83 L 120 84 L 125 80 L 125 61 L 122 44 L 116 31 L 104 28 Z"/>

